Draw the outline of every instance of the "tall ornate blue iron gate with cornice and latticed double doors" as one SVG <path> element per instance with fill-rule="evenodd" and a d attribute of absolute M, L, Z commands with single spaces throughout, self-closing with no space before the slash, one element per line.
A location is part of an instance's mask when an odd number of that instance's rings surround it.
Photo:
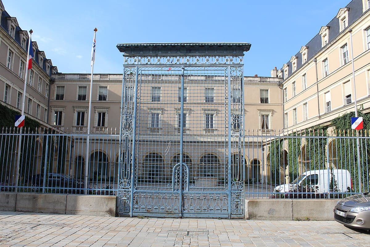
<path fill-rule="evenodd" d="M 118 211 L 244 216 L 243 51 L 118 44 L 124 52 Z"/>

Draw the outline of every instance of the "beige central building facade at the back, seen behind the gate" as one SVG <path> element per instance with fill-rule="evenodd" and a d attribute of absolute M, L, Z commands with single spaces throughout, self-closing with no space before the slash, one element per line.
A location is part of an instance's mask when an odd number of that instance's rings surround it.
<path fill-rule="evenodd" d="M 158 77 L 158 75 L 156 75 Z M 86 133 L 87 132 L 87 116 L 88 116 L 88 97 L 90 94 L 90 74 L 53 74 L 55 83 L 50 89 L 50 124 L 65 132 Z M 202 78 L 203 79 L 203 78 Z M 184 81 L 186 86 L 186 102 L 184 109 L 186 117 L 184 120 L 185 139 L 191 136 L 203 136 L 212 138 L 213 141 L 222 142 L 222 130 L 224 129 L 225 116 L 223 115 L 222 100 L 225 96 L 218 92 L 223 90 L 224 79 L 208 78 L 206 84 L 196 84 L 197 78 L 188 76 Z M 172 82 L 175 78 L 171 78 Z M 171 80 L 165 78 L 153 84 L 153 81 L 142 81 L 141 99 L 148 102 L 148 106 L 144 103 L 141 110 L 141 118 L 143 124 L 141 131 L 143 135 L 153 138 L 158 138 L 158 141 L 170 142 L 171 138 L 178 137 L 179 134 L 179 89 L 178 84 L 171 85 Z M 252 136 L 275 134 L 273 130 L 282 129 L 282 93 L 280 82 L 282 79 L 277 77 L 244 77 L 244 93 L 245 93 L 245 133 Z M 194 82 L 192 82 L 194 81 Z M 128 97 L 134 100 L 134 91 L 128 89 Z M 92 107 L 91 107 L 91 133 L 117 133 L 120 129 L 120 107 L 122 95 L 122 74 L 94 74 L 92 84 Z M 240 91 L 233 93 L 234 103 L 240 102 Z M 219 98 L 219 99 L 218 99 Z M 128 100 L 128 101 L 131 101 Z M 158 102 L 153 104 L 153 101 Z M 172 103 L 171 103 L 172 102 Z M 149 106 L 150 105 L 150 106 Z M 177 109 L 177 110 L 176 110 Z M 204 121 L 200 120 L 199 114 L 204 114 Z M 145 119 L 146 118 L 146 119 Z M 166 137 L 164 137 L 166 136 Z M 168 140 L 167 140 L 168 139 Z M 218 140 L 219 139 L 219 140 Z M 247 140 L 248 139 L 248 140 Z M 266 166 L 260 153 L 262 138 L 250 137 L 246 138 L 246 177 L 266 179 Z M 113 141 L 114 142 L 114 141 Z M 81 142 L 83 145 L 83 142 Z M 108 142 L 108 146 L 111 145 Z M 203 148 L 194 152 L 187 152 L 187 156 L 191 162 L 198 163 L 206 154 L 207 142 L 204 142 Z M 214 144 L 213 144 L 214 145 Z M 96 150 L 94 150 L 96 148 Z M 113 152 L 111 150 L 114 150 Z M 79 157 L 75 157 L 76 166 L 78 159 L 85 160 L 85 155 L 80 148 Z M 168 144 L 158 146 L 145 147 L 147 154 L 156 153 L 165 164 L 171 164 L 176 159 L 178 148 L 172 146 L 168 148 Z M 173 150 L 173 151 L 172 151 Z M 191 150 L 191 147 L 189 147 Z M 111 164 L 111 169 L 117 166 L 118 158 L 118 139 L 112 146 L 92 147 L 90 150 L 91 160 L 94 156 L 98 156 L 97 152 L 101 152 L 100 156 Z M 223 162 L 222 152 L 215 153 L 217 159 Z M 148 157 L 147 157 L 148 158 Z M 145 163 L 146 157 L 138 157 L 139 163 Z M 113 164 L 114 163 L 114 164 Z M 172 165 L 166 166 L 168 169 Z M 78 169 L 75 169 L 78 170 Z M 205 171 L 207 172 L 207 171 Z M 215 171 L 220 173 L 221 171 Z M 248 175 L 250 174 L 250 175 Z M 265 178 L 263 178 L 265 177 Z"/>

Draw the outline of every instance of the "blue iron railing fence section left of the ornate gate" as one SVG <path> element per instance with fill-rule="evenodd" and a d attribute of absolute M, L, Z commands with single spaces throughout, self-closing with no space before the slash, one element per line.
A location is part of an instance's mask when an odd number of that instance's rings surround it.
<path fill-rule="evenodd" d="M 117 194 L 119 134 L 108 133 L 107 128 L 104 132 L 90 134 L 87 152 L 87 134 L 41 128 L 20 133 L 18 128 L 3 128 L 0 191 Z M 87 155 L 90 158 L 86 166 Z"/>

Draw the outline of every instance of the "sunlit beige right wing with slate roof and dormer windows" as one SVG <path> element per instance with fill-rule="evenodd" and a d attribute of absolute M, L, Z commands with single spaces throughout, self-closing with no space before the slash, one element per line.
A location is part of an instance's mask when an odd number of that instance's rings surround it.
<path fill-rule="evenodd" d="M 285 130 L 330 125 L 340 114 L 354 111 L 354 87 L 357 106 L 369 113 L 369 49 L 369 1 L 351 1 L 278 71 L 284 78 Z"/>

